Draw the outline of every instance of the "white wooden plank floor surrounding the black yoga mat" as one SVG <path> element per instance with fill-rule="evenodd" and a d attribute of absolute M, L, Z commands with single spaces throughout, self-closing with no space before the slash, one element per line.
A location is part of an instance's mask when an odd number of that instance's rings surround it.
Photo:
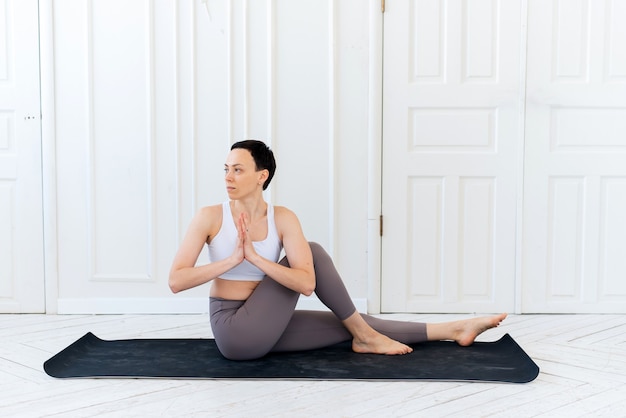
<path fill-rule="evenodd" d="M 463 315 L 387 315 L 439 322 Z M 625 315 L 512 315 L 541 368 L 528 384 L 74 379 L 42 364 L 86 332 L 210 337 L 204 315 L 0 315 L 0 417 L 626 417 Z"/>

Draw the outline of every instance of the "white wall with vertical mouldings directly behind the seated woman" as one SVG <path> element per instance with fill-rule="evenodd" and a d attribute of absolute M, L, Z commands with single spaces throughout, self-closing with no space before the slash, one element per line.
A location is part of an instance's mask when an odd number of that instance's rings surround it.
<path fill-rule="evenodd" d="M 48 311 L 204 309 L 206 287 L 170 295 L 169 263 L 195 210 L 226 198 L 244 138 L 274 149 L 267 198 L 363 309 L 371 5 L 42 1 Z"/>

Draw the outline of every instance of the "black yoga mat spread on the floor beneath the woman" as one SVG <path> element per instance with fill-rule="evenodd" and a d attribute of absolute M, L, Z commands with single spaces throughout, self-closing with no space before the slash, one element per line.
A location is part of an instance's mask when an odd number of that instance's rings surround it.
<path fill-rule="evenodd" d="M 403 356 L 357 354 L 349 342 L 231 361 L 212 339 L 101 340 L 92 333 L 44 363 L 50 376 L 244 380 L 455 380 L 526 383 L 539 367 L 509 334 L 496 342 L 413 344 Z"/>

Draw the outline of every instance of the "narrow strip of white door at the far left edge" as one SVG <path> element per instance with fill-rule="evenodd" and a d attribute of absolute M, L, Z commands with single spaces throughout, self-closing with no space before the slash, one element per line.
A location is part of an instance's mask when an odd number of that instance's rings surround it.
<path fill-rule="evenodd" d="M 0 312 L 45 310 L 37 0 L 0 0 Z"/>

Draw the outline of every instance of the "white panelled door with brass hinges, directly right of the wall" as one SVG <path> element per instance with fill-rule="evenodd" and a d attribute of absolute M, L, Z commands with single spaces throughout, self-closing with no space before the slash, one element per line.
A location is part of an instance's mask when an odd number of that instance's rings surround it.
<path fill-rule="evenodd" d="M 382 311 L 514 308 L 520 11 L 387 2 Z"/>

